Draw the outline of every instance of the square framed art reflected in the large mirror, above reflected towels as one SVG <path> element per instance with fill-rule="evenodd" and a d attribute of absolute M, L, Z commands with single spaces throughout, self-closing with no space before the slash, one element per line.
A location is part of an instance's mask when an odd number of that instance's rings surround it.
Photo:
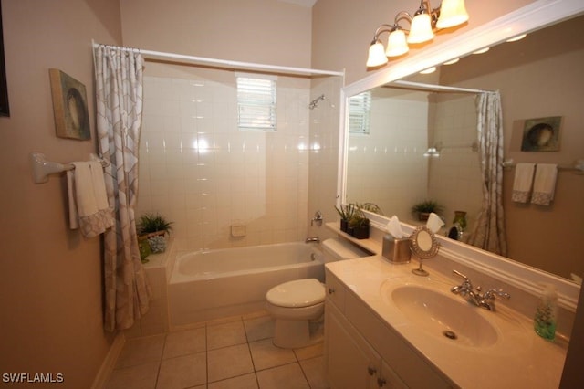
<path fill-rule="evenodd" d="M 522 152 L 558 152 L 561 116 L 527 119 L 523 122 Z"/>

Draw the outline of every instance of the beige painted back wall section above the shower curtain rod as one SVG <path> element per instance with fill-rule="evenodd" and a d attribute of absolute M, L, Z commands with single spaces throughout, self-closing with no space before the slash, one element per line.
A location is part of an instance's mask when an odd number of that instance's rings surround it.
<path fill-rule="evenodd" d="M 120 0 L 124 45 L 310 67 L 311 9 L 275 0 Z"/>

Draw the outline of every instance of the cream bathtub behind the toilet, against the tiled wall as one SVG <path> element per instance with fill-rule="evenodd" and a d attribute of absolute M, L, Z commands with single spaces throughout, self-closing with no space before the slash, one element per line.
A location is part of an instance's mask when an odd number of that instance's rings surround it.
<path fill-rule="evenodd" d="M 171 327 L 263 310 L 267 290 L 308 278 L 324 280 L 314 243 L 178 253 L 168 285 Z"/>

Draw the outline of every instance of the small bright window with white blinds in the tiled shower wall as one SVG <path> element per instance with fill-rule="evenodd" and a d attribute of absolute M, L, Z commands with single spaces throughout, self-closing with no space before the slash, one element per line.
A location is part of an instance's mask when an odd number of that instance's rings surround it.
<path fill-rule="evenodd" d="M 239 131 L 276 131 L 276 78 L 238 74 Z"/>

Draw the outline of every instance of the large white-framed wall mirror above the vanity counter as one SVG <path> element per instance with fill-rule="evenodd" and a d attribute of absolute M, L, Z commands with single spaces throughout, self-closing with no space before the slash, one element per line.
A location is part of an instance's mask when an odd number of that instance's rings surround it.
<path fill-rule="evenodd" d="M 385 216 L 416 226 L 420 222 L 412 205 L 431 199 L 443 206 L 446 230 L 454 211 L 462 210 L 465 233 L 470 233 L 482 201 L 473 90 L 501 93 L 506 159 L 561 167 L 584 159 L 584 5 L 560 1 L 552 9 L 545 3 L 534 2 L 469 33 L 461 31 L 450 45 L 430 45 L 346 87 L 342 201 L 375 203 Z M 523 32 L 528 33 L 524 39 L 506 43 Z M 471 54 L 483 47 L 491 48 Z M 453 58 L 460 60 L 442 65 Z M 419 74 L 433 66 L 438 67 L 433 74 Z M 370 107 L 363 131 L 351 117 L 351 101 L 354 107 Z M 519 126 L 550 116 L 562 118 L 559 150 L 522 152 Z M 431 148 L 439 156 L 428 153 Z M 572 273 L 581 277 L 584 175 L 558 171 L 554 201 L 544 207 L 511 200 L 514 174 L 513 168 L 504 173 L 508 258 L 564 279 L 572 279 Z"/>

